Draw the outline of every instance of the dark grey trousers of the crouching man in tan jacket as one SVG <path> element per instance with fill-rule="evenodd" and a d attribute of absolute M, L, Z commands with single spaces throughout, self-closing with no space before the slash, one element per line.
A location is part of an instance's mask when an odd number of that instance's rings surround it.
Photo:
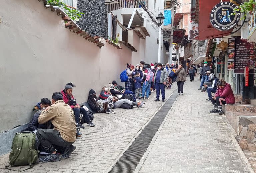
<path fill-rule="evenodd" d="M 54 145 L 64 148 L 74 143 L 67 142 L 62 139 L 62 137 L 60 136 L 60 132 L 53 129 L 38 129 L 36 132 L 36 136 L 38 137 L 38 140 L 40 141 L 43 148 L 48 153 L 52 153 L 55 151 Z"/>

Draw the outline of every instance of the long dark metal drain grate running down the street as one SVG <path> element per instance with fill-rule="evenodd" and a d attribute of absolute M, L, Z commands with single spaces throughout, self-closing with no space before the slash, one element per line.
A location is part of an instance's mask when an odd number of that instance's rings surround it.
<path fill-rule="evenodd" d="M 139 164 L 142 156 L 146 152 L 151 140 L 161 126 L 167 113 L 171 109 L 177 95 L 175 91 L 166 100 L 166 103 L 155 114 L 151 121 L 141 131 L 138 137 L 133 141 L 131 146 L 124 152 L 121 158 L 116 162 L 109 173 L 133 173 Z"/>

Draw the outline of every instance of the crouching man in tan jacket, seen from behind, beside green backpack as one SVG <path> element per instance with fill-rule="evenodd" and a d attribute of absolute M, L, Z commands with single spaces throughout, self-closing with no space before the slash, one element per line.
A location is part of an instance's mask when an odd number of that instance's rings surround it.
<path fill-rule="evenodd" d="M 40 157 L 40 162 L 60 161 L 55 146 L 65 148 L 61 158 L 68 158 L 75 150 L 72 144 L 76 140 L 76 123 L 73 110 L 63 101 L 60 92 L 52 95 L 52 105 L 47 107 L 38 117 L 38 123 L 43 124 L 51 121 L 54 129 L 39 129 L 37 137 L 41 145 L 48 151 L 48 155 Z"/>

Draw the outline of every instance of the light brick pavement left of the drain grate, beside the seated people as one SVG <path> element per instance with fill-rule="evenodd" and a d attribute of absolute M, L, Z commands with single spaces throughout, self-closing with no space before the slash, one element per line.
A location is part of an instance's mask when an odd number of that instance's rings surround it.
<path fill-rule="evenodd" d="M 177 88 L 174 83 L 171 90 L 166 90 L 166 98 Z M 161 102 L 154 102 L 153 92 L 140 109 L 115 109 L 116 114 L 95 114 L 95 127 L 81 129 L 82 137 L 74 143 L 75 151 L 68 159 L 59 162 L 38 163 L 26 172 L 36 173 L 100 173 L 107 172 L 118 160 L 130 142 L 161 107 Z M 161 99 L 161 97 L 160 97 Z M 8 154 L 0 157 L 0 172 L 17 172 L 4 169 L 8 164 Z M 28 167 L 28 166 L 24 166 Z M 14 167 L 18 170 L 20 167 Z M 23 170 L 24 168 L 21 168 Z"/>

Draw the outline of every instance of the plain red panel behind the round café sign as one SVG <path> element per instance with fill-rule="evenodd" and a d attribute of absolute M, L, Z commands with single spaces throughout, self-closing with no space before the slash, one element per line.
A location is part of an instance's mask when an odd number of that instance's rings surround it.
<path fill-rule="evenodd" d="M 229 0 L 223 0 L 222 2 L 225 2 L 225 1 L 229 2 Z M 212 8 L 218 3 L 220 3 L 219 0 L 211 0 L 211 1 L 199 0 L 199 15 L 198 15 L 199 16 L 199 22 L 198 22 L 199 40 L 227 36 L 227 35 L 230 35 L 230 33 L 233 31 L 233 29 L 227 30 L 227 31 L 219 31 L 213 28 L 213 26 L 211 25 L 210 12 Z"/>

